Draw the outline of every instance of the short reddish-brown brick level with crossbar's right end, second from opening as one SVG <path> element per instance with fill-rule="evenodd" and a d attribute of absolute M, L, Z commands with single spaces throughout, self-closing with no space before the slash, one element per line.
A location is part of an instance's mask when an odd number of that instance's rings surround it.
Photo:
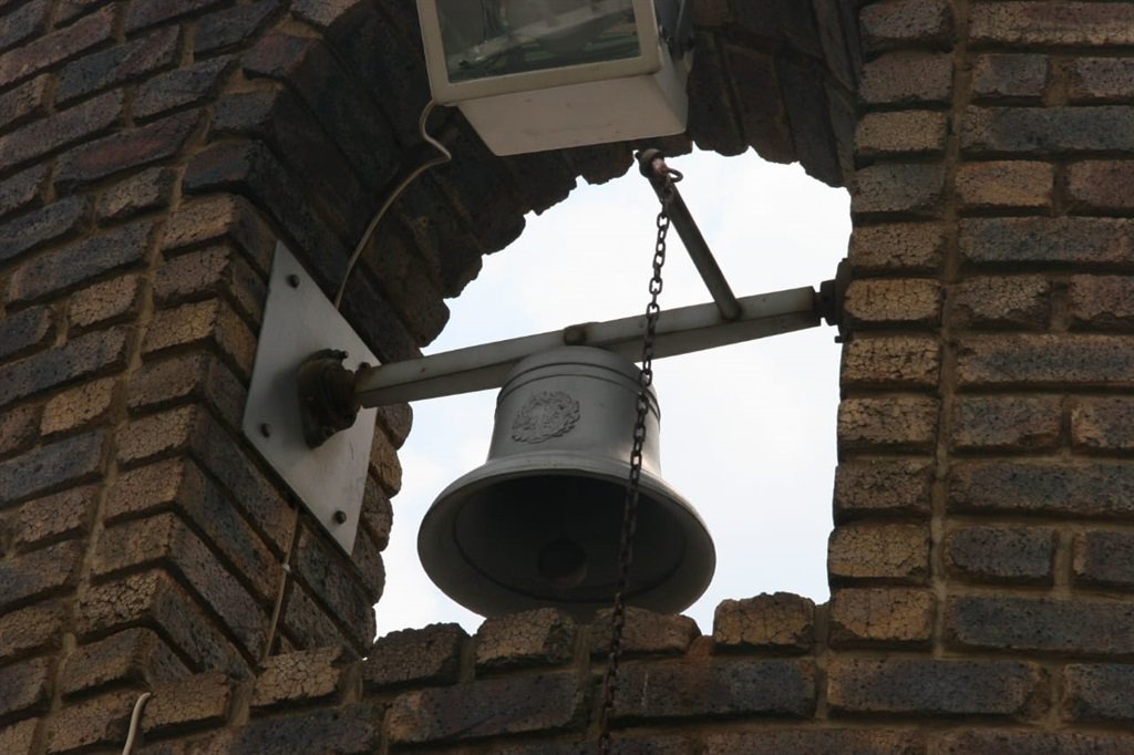
<path fill-rule="evenodd" d="M 953 297 L 954 321 L 968 328 L 1047 330 L 1051 285 L 1040 275 L 970 278 Z"/>

